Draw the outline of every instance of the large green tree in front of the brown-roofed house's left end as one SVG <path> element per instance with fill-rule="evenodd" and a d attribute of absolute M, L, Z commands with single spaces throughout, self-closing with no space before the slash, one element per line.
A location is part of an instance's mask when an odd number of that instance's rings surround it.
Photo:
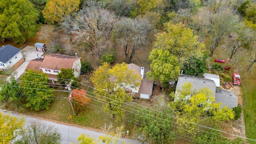
<path fill-rule="evenodd" d="M 49 109 L 52 96 L 52 89 L 48 86 L 48 75 L 46 73 L 27 70 L 21 77 L 21 88 L 23 95 L 27 96 L 26 106 L 31 110 Z"/>

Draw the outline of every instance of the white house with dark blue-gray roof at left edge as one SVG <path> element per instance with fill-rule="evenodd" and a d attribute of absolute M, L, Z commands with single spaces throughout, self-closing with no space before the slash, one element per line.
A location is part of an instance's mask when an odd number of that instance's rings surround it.
<path fill-rule="evenodd" d="M 0 70 L 18 68 L 24 62 L 21 50 L 10 44 L 0 47 Z"/>

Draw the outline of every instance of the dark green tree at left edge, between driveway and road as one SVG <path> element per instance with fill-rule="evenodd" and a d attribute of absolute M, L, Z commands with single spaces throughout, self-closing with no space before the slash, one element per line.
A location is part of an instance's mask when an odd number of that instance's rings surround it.
<path fill-rule="evenodd" d="M 17 108 L 23 100 L 20 84 L 12 77 L 10 83 L 6 82 L 1 86 L 0 101 L 14 104 Z"/>

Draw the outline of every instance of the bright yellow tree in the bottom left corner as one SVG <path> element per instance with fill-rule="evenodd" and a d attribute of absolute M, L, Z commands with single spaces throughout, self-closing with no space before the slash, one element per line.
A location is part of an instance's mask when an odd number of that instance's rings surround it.
<path fill-rule="evenodd" d="M 24 122 L 24 118 L 18 119 L 0 112 L 0 144 L 10 144 L 21 134 Z"/>

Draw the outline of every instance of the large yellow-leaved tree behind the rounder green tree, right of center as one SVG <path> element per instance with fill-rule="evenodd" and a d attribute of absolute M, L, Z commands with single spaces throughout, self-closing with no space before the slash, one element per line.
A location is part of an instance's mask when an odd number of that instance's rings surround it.
<path fill-rule="evenodd" d="M 154 48 L 168 50 L 182 64 L 190 56 L 201 56 L 205 50 L 204 44 L 198 42 L 197 38 L 193 30 L 186 28 L 184 24 L 169 23 L 166 32 L 156 35 Z"/>

